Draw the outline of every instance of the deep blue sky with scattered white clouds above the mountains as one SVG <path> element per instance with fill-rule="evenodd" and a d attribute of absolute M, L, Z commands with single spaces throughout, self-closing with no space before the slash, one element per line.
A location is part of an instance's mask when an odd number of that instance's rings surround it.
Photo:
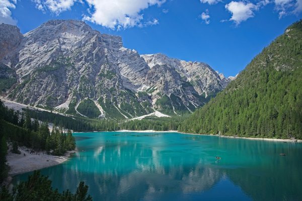
<path fill-rule="evenodd" d="M 0 0 L 0 23 L 22 33 L 50 19 L 84 20 L 140 54 L 206 62 L 225 76 L 301 17 L 302 0 Z"/>

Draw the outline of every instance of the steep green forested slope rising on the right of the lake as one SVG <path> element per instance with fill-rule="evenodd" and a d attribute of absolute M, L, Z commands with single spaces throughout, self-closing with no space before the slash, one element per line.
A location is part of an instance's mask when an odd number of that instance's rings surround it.
<path fill-rule="evenodd" d="M 302 139 L 302 21 L 289 26 L 181 131 Z"/>

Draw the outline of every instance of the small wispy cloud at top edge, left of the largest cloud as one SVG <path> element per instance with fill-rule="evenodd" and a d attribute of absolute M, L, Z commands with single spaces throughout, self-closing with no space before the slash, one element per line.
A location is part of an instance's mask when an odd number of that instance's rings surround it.
<path fill-rule="evenodd" d="M 60 14 L 63 11 L 70 10 L 74 5 L 74 2 L 77 0 L 32 0 L 36 3 L 36 8 L 45 11 L 48 9 L 50 12 L 55 13 L 56 15 Z M 82 2 L 82 1 L 80 1 Z"/>

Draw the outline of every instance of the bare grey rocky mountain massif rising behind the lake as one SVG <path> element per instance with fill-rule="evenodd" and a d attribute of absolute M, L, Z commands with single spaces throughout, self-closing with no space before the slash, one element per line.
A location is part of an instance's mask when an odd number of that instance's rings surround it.
<path fill-rule="evenodd" d="M 192 112 L 221 91 L 209 65 L 139 55 L 85 22 L 51 20 L 22 35 L 0 25 L 0 87 L 23 104 L 90 118 Z"/>

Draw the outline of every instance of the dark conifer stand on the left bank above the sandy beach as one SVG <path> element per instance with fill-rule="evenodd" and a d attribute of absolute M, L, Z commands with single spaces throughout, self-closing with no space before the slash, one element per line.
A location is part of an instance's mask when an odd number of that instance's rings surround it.
<path fill-rule="evenodd" d="M 0 101 L 0 183 L 6 178 L 8 167 L 6 155 L 8 143 L 12 151 L 19 154 L 18 146 L 26 146 L 33 150 L 46 150 L 53 155 L 63 155 L 68 150 L 75 149 L 75 139 L 70 130 L 63 132 L 62 128 L 54 126 L 51 133 L 47 123 L 39 123 L 32 119 L 29 112 L 19 112 L 8 109 Z"/>

